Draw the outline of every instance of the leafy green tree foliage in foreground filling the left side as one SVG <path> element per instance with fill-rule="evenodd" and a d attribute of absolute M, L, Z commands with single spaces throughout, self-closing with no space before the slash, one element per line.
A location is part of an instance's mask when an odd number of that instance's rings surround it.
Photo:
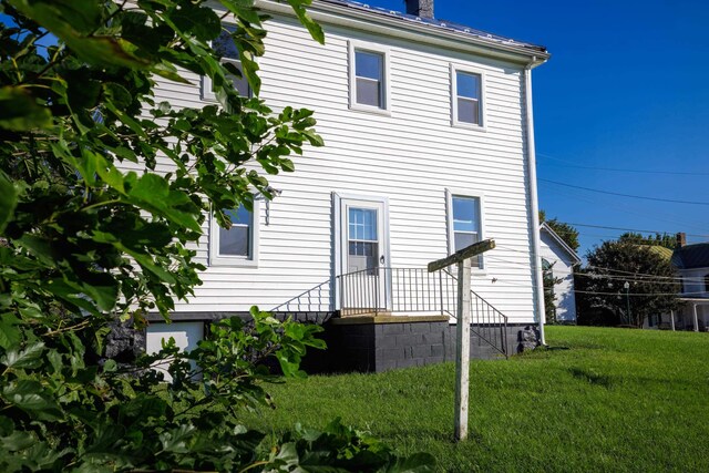
<path fill-rule="evenodd" d="M 265 18 L 253 1 L 220 3 L 257 96 Z M 289 3 L 322 41 L 309 0 Z M 133 363 L 105 357 L 112 325 L 167 319 L 193 294 L 205 215 L 227 225 L 254 192 L 270 198 L 247 162 L 290 172 L 290 154 L 322 145 L 312 112 L 238 96 L 238 71 L 209 48 L 223 18 L 203 0 L 8 0 L 0 12 L 0 471 L 429 471 L 430 456 L 397 459 L 337 421 L 280 439 L 239 423 L 270 405 L 264 360 L 301 376 L 306 347 L 322 348 L 316 326 L 255 308 L 189 353 L 169 342 Z M 154 78 L 185 82 L 181 70 L 210 78 L 220 104 L 156 103 Z"/>

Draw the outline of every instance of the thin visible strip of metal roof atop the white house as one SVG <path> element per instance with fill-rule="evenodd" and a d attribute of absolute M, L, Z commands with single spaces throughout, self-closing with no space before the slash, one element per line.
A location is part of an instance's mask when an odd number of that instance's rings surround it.
<path fill-rule="evenodd" d="M 320 2 L 339 4 L 342 7 L 364 11 L 372 14 L 398 19 L 402 22 L 424 25 L 431 29 L 449 30 L 456 33 L 462 33 L 464 35 L 469 35 L 471 38 L 481 39 L 491 43 L 514 45 L 522 49 L 527 49 L 532 52 L 542 53 L 543 55 L 547 54 L 546 48 L 543 45 L 532 44 L 524 41 L 516 41 L 516 40 L 513 40 L 512 38 L 501 37 L 499 34 L 489 33 L 486 31 L 477 30 L 475 28 L 466 27 L 464 24 L 459 24 L 451 21 L 417 17 L 413 14 L 402 13 L 395 10 L 389 10 L 380 7 L 372 7 L 372 6 L 369 6 L 368 3 L 362 3 L 362 2 L 352 1 L 352 0 L 320 0 Z"/>

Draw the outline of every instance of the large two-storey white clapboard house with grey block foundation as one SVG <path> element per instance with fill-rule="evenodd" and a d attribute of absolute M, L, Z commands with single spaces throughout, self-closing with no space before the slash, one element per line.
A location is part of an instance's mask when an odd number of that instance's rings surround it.
<path fill-rule="evenodd" d="M 546 49 L 434 20 L 431 1 L 413 0 L 419 16 L 316 0 L 320 45 L 287 4 L 256 3 L 273 17 L 259 96 L 315 110 L 326 146 L 269 176 L 278 196 L 235 209 L 230 230 L 207 225 L 204 284 L 173 325 L 153 319 L 148 349 L 169 333 L 193 347 L 209 320 L 258 305 L 331 319 L 329 358 L 343 369 L 451 359 L 455 280 L 427 264 L 493 238 L 474 261 L 473 352 L 513 352 L 543 313 L 531 74 Z M 156 101 L 214 103 L 208 81 L 184 75 L 192 84 L 156 78 Z"/>

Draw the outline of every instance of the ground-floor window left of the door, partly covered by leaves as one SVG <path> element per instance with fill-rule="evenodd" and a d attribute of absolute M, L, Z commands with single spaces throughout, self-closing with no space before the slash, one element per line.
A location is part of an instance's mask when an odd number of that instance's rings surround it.
<path fill-rule="evenodd" d="M 212 217 L 209 263 L 215 266 L 256 266 L 258 261 L 258 222 L 260 202 L 254 199 L 253 210 L 244 205 L 226 210 L 229 228 L 220 227 Z"/>

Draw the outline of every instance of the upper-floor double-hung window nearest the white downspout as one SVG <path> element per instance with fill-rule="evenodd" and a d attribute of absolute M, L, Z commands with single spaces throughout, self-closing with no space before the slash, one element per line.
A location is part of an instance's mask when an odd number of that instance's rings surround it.
<path fill-rule="evenodd" d="M 451 66 L 451 82 L 453 124 L 483 127 L 483 74 Z"/>

